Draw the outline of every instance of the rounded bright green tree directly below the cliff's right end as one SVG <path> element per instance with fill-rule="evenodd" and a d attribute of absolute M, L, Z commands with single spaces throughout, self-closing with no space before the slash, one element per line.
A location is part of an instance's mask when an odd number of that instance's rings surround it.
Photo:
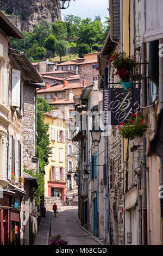
<path fill-rule="evenodd" d="M 52 24 L 52 33 L 57 40 L 65 39 L 67 36 L 67 27 L 64 21 L 56 21 Z"/>

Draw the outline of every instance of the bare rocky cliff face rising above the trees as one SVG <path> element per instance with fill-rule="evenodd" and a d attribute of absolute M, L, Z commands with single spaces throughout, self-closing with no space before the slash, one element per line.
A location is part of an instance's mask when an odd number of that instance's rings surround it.
<path fill-rule="evenodd" d="M 34 25 L 43 20 L 61 20 L 60 9 L 55 0 L 1 0 L 1 9 L 21 16 L 21 31 L 33 31 Z"/>

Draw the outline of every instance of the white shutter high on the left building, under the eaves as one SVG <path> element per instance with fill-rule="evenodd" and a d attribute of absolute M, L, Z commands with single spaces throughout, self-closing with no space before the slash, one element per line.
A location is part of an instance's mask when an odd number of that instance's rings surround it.
<path fill-rule="evenodd" d="M 21 91 L 21 79 L 20 70 L 12 69 L 12 82 L 11 82 L 11 105 L 20 107 L 20 91 Z"/>

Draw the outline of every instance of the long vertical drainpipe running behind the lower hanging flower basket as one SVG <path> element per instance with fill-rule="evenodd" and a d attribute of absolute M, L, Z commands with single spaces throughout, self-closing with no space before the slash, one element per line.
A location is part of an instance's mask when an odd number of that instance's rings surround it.
<path fill-rule="evenodd" d="M 142 63 L 146 63 L 146 44 L 142 44 Z M 147 106 L 147 80 L 146 65 L 142 65 L 142 107 Z M 146 178 L 146 137 L 143 137 L 143 157 L 142 157 L 142 210 L 143 210 L 143 245 L 147 245 L 147 178 Z"/>

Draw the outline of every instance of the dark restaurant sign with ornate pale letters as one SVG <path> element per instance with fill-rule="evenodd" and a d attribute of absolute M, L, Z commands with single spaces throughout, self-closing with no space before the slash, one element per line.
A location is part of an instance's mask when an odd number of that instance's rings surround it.
<path fill-rule="evenodd" d="M 123 88 L 104 88 L 103 91 L 103 111 L 104 113 L 111 113 L 111 121 L 109 125 L 118 125 L 122 122 L 126 123 L 132 114 L 132 106 L 134 112 L 140 109 L 140 95 L 139 89 L 133 90 L 133 97 L 131 90 L 126 91 Z M 104 114 L 104 116 L 106 116 Z"/>

